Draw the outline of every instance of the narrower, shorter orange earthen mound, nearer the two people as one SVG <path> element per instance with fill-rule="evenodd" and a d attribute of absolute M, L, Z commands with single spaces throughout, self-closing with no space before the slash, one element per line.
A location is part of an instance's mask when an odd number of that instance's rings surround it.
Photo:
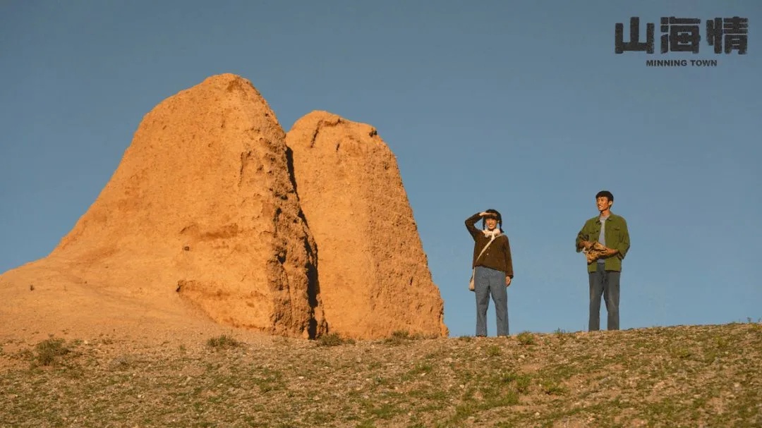
<path fill-rule="evenodd" d="M 328 330 L 360 339 L 447 336 L 397 162 L 376 129 L 315 111 L 296 121 L 286 142 L 318 245 Z"/>

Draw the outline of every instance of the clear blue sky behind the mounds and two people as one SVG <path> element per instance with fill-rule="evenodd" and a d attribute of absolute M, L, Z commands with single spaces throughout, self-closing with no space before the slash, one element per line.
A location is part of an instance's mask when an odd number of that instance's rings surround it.
<path fill-rule="evenodd" d="M 614 53 L 632 16 L 643 40 L 655 23 L 654 54 Z M 662 16 L 700 18 L 700 53 L 661 54 Z M 732 16 L 746 55 L 706 43 L 706 20 Z M 760 34 L 757 0 L 0 1 L 0 272 L 53 250 L 149 110 L 231 72 L 286 131 L 312 110 L 376 126 L 452 336 L 475 333 L 463 221 L 488 208 L 511 239 L 511 334 L 585 330 L 574 239 L 602 189 L 632 239 L 623 329 L 757 321 Z"/>

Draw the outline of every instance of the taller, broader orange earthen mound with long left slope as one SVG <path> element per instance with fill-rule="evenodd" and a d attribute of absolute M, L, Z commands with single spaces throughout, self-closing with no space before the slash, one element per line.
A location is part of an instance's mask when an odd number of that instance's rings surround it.
<path fill-rule="evenodd" d="M 146 114 L 98 199 L 38 265 L 154 304 L 190 303 L 222 324 L 314 337 L 325 331 L 315 241 L 286 150 L 248 80 L 207 78 Z"/>

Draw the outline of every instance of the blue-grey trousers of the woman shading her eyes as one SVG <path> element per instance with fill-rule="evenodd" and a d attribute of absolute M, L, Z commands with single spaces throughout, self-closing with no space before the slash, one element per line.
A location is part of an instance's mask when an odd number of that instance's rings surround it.
<path fill-rule="evenodd" d="M 505 286 L 505 273 L 501 270 L 477 266 L 474 274 L 474 292 L 476 295 L 476 335 L 487 335 L 487 309 L 491 295 L 492 300 L 495 301 L 498 336 L 507 336 L 508 292 Z"/>

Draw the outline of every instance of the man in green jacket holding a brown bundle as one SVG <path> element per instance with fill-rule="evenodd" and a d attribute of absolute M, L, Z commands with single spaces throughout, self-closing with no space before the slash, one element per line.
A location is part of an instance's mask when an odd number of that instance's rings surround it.
<path fill-rule="evenodd" d="M 624 217 L 611 212 L 614 196 L 608 190 L 595 195 L 600 214 L 584 222 L 577 234 L 577 252 L 590 251 L 596 242 L 603 246 L 597 260 L 588 262 L 590 283 L 590 317 L 588 331 L 600 330 L 600 295 L 606 301 L 608 330 L 620 328 L 620 275 L 622 260 L 629 250 L 629 232 Z"/>

